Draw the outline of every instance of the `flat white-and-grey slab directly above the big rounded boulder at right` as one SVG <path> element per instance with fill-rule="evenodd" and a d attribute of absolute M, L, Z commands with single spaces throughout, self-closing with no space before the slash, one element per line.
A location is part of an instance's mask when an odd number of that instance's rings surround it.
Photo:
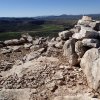
<path fill-rule="evenodd" d="M 98 48 L 100 46 L 100 41 L 98 39 L 83 39 L 82 43 L 84 46 Z"/>

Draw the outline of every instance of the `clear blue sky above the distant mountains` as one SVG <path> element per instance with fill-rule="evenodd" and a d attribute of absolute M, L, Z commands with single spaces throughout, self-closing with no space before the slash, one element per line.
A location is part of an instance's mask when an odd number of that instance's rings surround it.
<path fill-rule="evenodd" d="M 100 0 L 0 0 L 0 17 L 98 13 Z"/>

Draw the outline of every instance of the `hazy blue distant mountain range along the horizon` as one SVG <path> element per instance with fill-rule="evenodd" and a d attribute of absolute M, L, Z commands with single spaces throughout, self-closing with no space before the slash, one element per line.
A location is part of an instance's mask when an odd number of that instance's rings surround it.
<path fill-rule="evenodd" d="M 92 17 L 93 19 L 99 19 L 100 20 L 100 14 L 85 14 L 86 16 L 90 16 Z M 56 16 L 56 15 L 51 15 L 51 16 L 37 16 L 37 17 L 0 17 L 0 20 L 4 19 L 4 20 L 18 20 L 18 19 L 22 19 L 23 20 L 28 20 L 28 21 L 31 21 L 31 20 L 56 20 L 56 19 L 68 19 L 68 20 L 78 20 L 82 17 L 83 15 L 66 15 L 66 14 L 63 14 L 63 15 L 59 15 L 59 16 Z"/>

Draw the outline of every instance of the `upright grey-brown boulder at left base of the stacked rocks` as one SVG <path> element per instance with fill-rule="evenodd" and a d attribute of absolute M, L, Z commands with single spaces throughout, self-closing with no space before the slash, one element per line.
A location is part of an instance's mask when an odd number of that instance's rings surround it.
<path fill-rule="evenodd" d="M 67 40 L 63 46 L 64 56 L 68 59 L 69 64 L 78 64 L 78 56 L 75 52 L 75 39 Z"/>

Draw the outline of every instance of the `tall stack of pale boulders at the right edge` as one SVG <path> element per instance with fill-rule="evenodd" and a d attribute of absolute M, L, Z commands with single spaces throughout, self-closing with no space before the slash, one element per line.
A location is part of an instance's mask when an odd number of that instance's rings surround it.
<path fill-rule="evenodd" d="M 80 26 L 80 31 L 74 32 L 72 39 L 67 40 L 63 47 L 64 55 L 69 63 L 71 65 L 80 63 L 80 67 L 86 75 L 88 86 L 95 91 L 99 91 L 100 88 L 100 33 L 95 29 L 97 23 L 99 21 L 83 16 L 77 24 Z"/>

